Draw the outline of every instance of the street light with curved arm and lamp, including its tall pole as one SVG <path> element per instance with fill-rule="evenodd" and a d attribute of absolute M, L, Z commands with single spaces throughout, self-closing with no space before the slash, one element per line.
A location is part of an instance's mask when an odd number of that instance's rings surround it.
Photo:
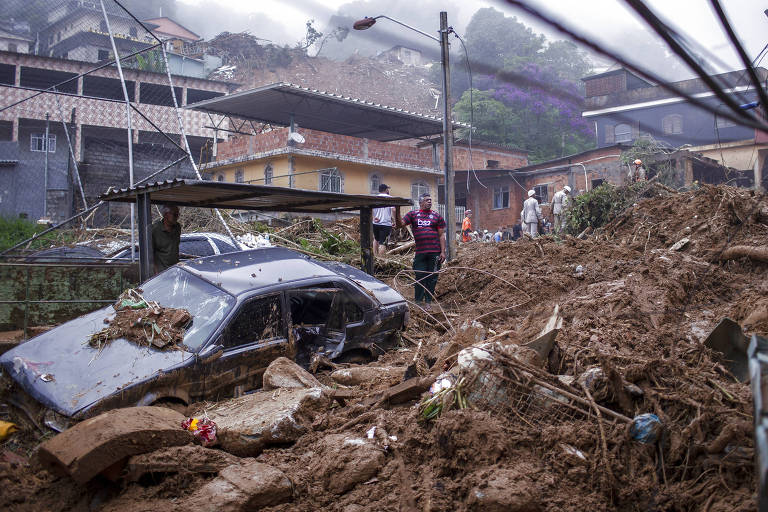
<path fill-rule="evenodd" d="M 426 32 L 423 32 L 415 27 L 407 25 L 402 21 L 398 21 L 389 16 L 379 15 L 374 17 L 365 17 L 356 21 L 352 27 L 355 30 L 367 30 L 376 24 L 376 20 L 384 18 L 405 28 L 411 29 L 414 32 L 418 32 L 423 36 L 427 36 L 433 41 L 440 43 L 440 65 L 443 69 L 443 149 L 445 160 L 445 224 L 446 229 L 446 247 L 448 248 L 448 254 L 446 259 L 452 260 L 456 256 L 456 223 L 454 221 L 455 216 L 455 202 L 456 197 L 454 195 L 453 188 L 453 124 L 451 123 L 451 75 L 450 64 L 448 62 L 448 34 L 453 29 L 448 26 L 448 13 L 445 11 L 440 13 L 440 37 L 437 38 Z"/>

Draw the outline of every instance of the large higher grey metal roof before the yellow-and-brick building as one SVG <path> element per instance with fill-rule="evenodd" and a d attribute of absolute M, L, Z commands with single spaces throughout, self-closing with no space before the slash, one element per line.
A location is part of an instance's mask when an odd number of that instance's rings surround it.
<path fill-rule="evenodd" d="M 199 101 L 186 108 L 281 126 L 289 126 L 293 116 L 294 122 L 305 128 L 382 142 L 443 132 L 440 117 L 286 82 Z M 457 122 L 453 126 L 469 127 Z"/>

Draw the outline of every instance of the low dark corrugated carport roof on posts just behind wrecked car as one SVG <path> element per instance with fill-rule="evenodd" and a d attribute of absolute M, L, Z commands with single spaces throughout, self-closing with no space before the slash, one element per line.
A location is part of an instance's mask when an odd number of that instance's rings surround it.
<path fill-rule="evenodd" d="M 110 189 L 103 201 L 132 203 L 138 194 L 150 194 L 153 203 L 200 208 L 299 213 L 335 213 L 360 208 L 409 206 L 402 197 L 351 195 L 295 188 L 224 183 L 221 181 L 172 180 L 131 188 Z"/>

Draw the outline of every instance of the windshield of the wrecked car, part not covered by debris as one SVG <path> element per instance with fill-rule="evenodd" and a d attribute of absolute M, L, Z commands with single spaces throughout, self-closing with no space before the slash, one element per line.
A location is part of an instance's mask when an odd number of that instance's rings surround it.
<path fill-rule="evenodd" d="M 197 351 L 232 309 L 235 298 L 179 267 L 171 267 L 141 287 L 144 298 L 170 308 L 184 308 L 192 325 L 184 334 L 184 345 Z"/>

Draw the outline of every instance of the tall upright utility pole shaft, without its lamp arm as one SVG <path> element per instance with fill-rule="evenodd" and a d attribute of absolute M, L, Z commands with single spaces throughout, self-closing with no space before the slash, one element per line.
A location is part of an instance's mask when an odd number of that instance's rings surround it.
<path fill-rule="evenodd" d="M 446 259 L 456 257 L 456 195 L 453 187 L 453 119 L 451 118 L 451 68 L 448 44 L 448 13 L 440 12 L 440 61 L 443 68 L 443 148 L 445 158 L 445 236 L 448 254 Z"/>

